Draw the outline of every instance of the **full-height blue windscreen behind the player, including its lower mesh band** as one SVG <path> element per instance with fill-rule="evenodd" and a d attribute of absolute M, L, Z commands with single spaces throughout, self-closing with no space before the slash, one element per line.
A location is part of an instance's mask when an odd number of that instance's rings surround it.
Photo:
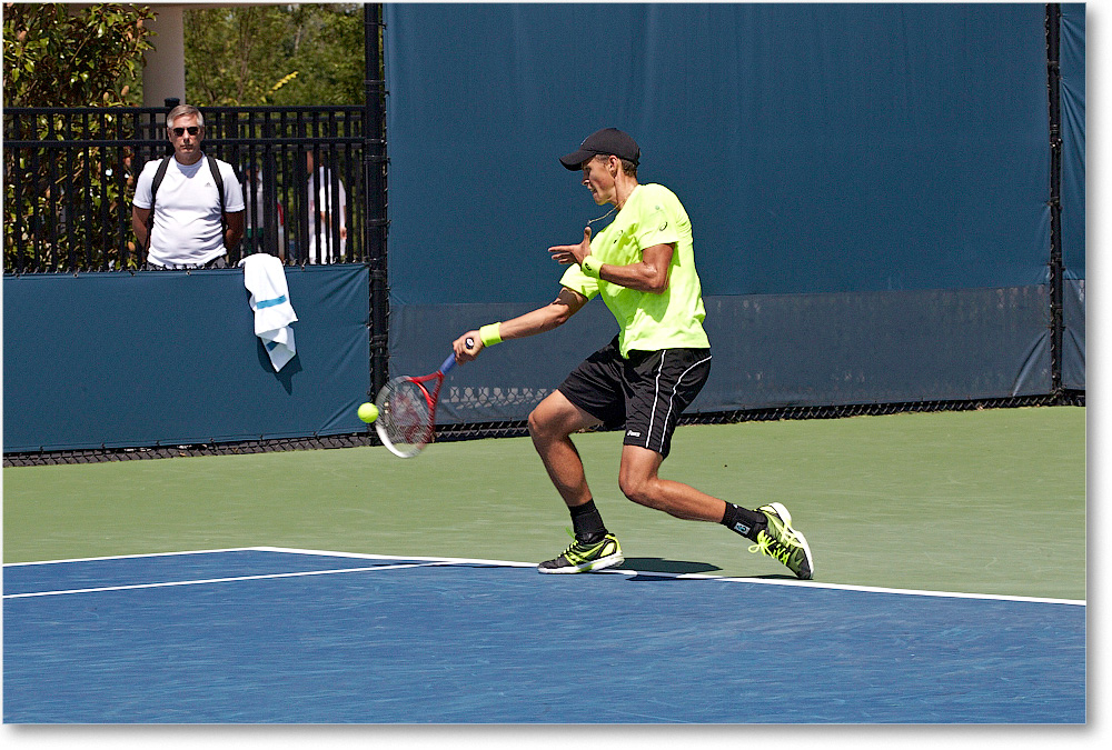
<path fill-rule="evenodd" d="M 614 126 L 692 217 L 715 351 L 695 409 L 1048 392 L 1043 4 L 388 3 L 386 23 L 393 371 L 553 298 L 546 248 L 605 212 L 557 157 Z M 590 316 L 460 368 L 445 420 L 527 414 L 613 333 Z"/>

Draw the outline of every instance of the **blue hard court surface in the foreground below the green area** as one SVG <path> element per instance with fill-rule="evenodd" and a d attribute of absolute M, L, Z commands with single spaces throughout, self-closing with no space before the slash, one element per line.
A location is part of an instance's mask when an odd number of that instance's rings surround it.
<path fill-rule="evenodd" d="M 9 723 L 1085 721 L 1083 602 L 271 549 L 3 583 Z"/>

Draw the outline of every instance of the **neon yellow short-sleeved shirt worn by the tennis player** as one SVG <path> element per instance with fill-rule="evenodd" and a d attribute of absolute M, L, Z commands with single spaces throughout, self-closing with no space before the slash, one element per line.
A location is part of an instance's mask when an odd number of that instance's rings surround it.
<path fill-rule="evenodd" d="M 642 251 L 654 244 L 673 244 L 668 288 L 661 294 L 626 289 L 593 279 L 578 266 L 564 272 L 560 284 L 587 299 L 602 294 L 622 332 L 622 357 L 631 350 L 711 346 L 703 330 L 706 310 L 703 287 L 695 271 L 692 222 L 679 199 L 663 184 L 639 184 L 610 224 L 590 238 L 590 254 L 609 266 L 642 261 Z"/>

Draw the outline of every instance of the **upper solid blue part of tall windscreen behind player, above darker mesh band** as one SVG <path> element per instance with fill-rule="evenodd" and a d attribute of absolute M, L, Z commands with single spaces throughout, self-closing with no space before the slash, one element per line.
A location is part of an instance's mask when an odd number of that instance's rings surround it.
<path fill-rule="evenodd" d="M 388 3 L 394 293 L 550 293 L 545 249 L 605 212 L 557 157 L 609 126 L 686 206 L 707 294 L 1042 282 L 1044 12 Z"/>

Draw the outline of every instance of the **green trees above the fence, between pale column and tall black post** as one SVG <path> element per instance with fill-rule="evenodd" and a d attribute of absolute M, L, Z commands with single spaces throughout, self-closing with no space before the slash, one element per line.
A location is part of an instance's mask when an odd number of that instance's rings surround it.
<path fill-rule="evenodd" d="M 188 9 L 186 99 L 198 107 L 361 104 L 361 4 Z"/>

